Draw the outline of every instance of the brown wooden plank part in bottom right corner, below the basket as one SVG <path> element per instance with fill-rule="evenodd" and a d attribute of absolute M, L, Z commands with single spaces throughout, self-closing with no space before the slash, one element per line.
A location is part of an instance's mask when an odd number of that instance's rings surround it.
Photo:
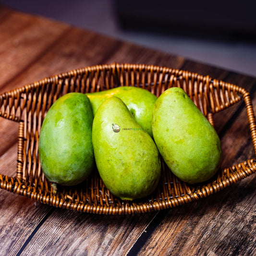
<path fill-rule="evenodd" d="M 168 211 L 138 255 L 255 255 L 255 185 L 254 175 Z"/>

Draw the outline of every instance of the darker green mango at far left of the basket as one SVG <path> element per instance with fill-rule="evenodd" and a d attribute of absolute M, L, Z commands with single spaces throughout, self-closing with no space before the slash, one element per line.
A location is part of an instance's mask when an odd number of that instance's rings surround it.
<path fill-rule="evenodd" d="M 93 114 L 85 94 L 69 93 L 50 107 L 39 137 L 39 158 L 49 181 L 81 183 L 94 166 Z"/>

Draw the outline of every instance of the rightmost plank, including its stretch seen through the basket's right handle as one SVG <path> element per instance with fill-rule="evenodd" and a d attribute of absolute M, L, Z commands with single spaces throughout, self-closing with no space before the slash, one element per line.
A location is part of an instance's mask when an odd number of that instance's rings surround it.
<path fill-rule="evenodd" d="M 252 98 L 256 106 L 256 93 Z M 222 168 L 255 158 L 245 107 L 234 117 L 221 144 Z M 187 251 L 190 255 L 222 255 L 226 251 L 229 255 L 256 254 L 256 237 L 252 235 L 256 226 L 251 225 L 256 220 L 255 186 L 254 174 L 215 195 L 173 209 L 152 232 L 139 255 L 175 255 L 178 250 L 181 255 Z"/>

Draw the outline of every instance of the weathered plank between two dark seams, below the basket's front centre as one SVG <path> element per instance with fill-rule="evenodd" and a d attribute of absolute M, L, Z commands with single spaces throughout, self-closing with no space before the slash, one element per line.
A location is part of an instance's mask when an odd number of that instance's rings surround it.
<path fill-rule="evenodd" d="M 56 209 L 38 229 L 22 255 L 126 255 L 155 213 L 102 216 Z M 54 225 L 54 228 L 52 228 Z"/>

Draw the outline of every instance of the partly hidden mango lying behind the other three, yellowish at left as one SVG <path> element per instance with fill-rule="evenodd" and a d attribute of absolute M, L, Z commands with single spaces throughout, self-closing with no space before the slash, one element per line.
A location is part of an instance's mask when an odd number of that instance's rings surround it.
<path fill-rule="evenodd" d="M 90 99 L 93 114 L 95 115 L 100 104 L 110 97 L 121 98 L 127 108 L 130 110 L 135 120 L 151 136 L 152 134 L 152 112 L 157 97 L 146 89 L 122 86 L 107 91 L 87 93 Z"/>

